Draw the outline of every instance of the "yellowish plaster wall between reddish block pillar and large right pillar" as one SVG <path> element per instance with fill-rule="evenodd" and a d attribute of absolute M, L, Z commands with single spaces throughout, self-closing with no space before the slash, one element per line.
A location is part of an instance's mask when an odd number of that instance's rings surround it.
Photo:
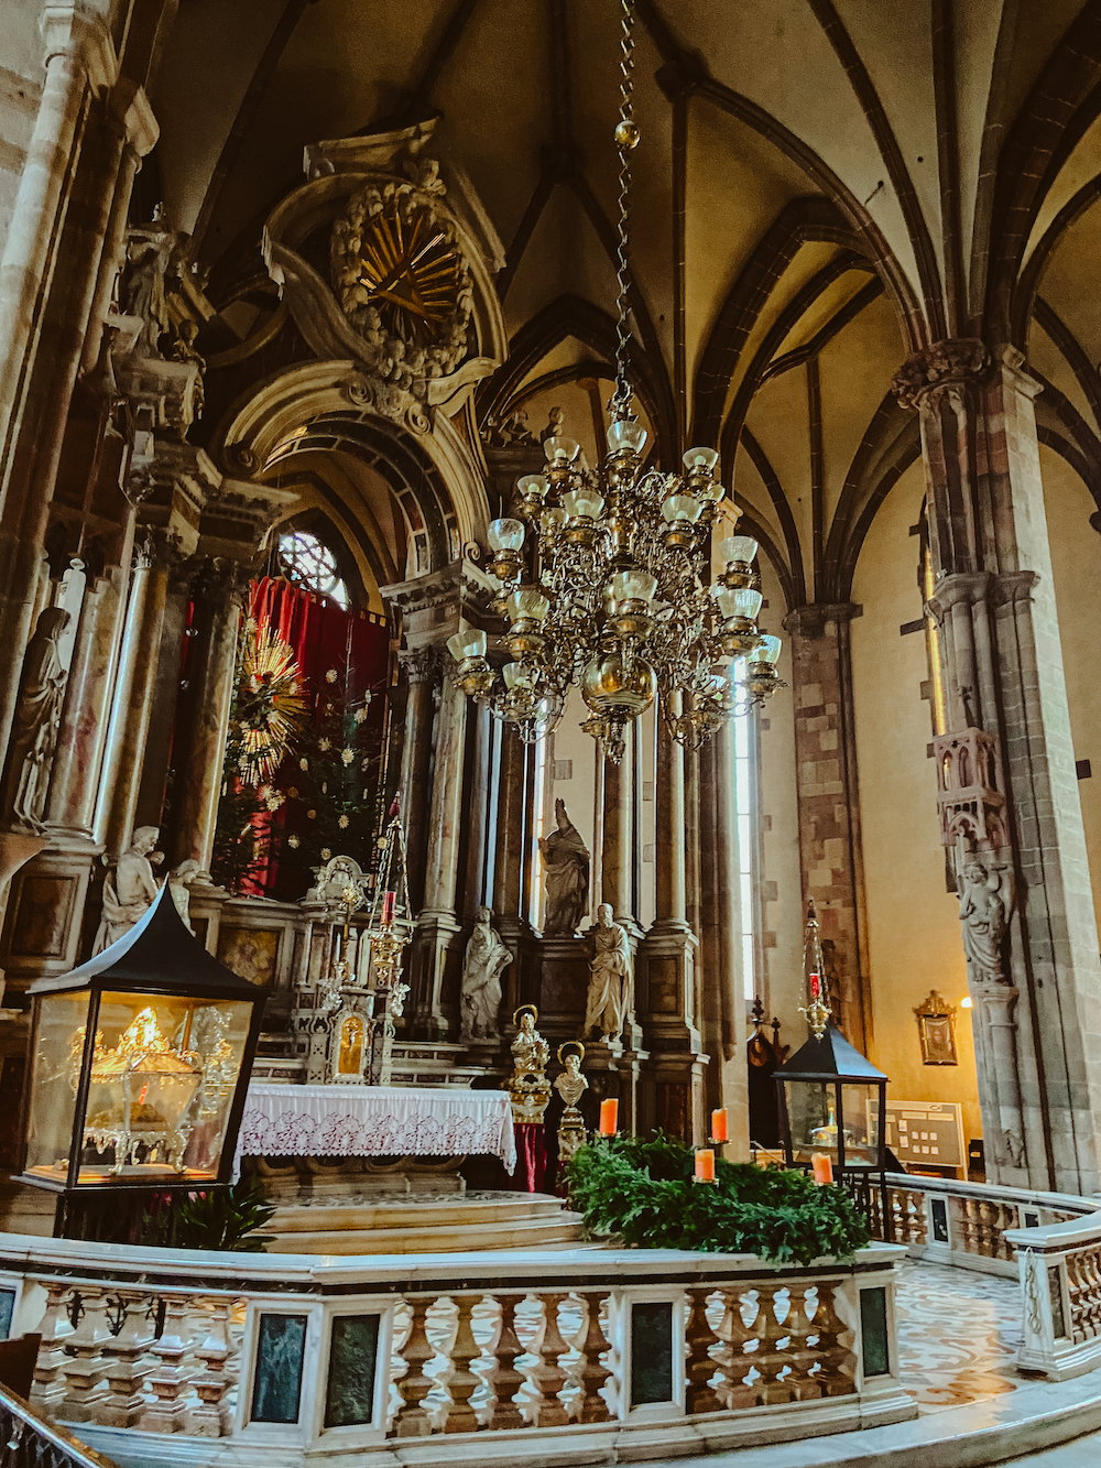
<path fill-rule="evenodd" d="M 919 542 L 925 493 L 915 464 L 888 495 L 865 540 L 853 583 L 863 615 L 851 624 L 868 957 L 869 1058 L 891 1078 L 888 1098 L 962 1101 L 964 1135 L 981 1136 L 970 1011 L 957 1013 L 959 1066 L 925 1066 L 915 1007 L 931 989 L 951 1004 L 967 992 L 956 897 L 945 890 L 937 780 L 922 683 L 925 639 L 898 628 L 922 615 Z"/>

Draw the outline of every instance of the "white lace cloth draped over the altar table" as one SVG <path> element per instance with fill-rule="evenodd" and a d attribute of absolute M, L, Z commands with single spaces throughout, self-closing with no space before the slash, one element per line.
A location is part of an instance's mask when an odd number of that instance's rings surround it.
<path fill-rule="evenodd" d="M 489 1152 L 517 1166 L 505 1091 L 301 1086 L 252 1082 L 233 1176 L 248 1157 L 459 1157 Z"/>

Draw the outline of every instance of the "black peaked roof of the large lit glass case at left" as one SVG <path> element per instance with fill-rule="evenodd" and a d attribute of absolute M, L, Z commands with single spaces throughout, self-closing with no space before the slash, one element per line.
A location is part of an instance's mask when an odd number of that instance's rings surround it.
<path fill-rule="evenodd" d="M 179 916 L 167 881 L 148 912 L 117 942 L 70 973 L 35 979 L 28 994 L 91 988 L 250 1000 L 254 1004 L 264 998 L 255 984 L 238 978 L 207 953 Z"/>

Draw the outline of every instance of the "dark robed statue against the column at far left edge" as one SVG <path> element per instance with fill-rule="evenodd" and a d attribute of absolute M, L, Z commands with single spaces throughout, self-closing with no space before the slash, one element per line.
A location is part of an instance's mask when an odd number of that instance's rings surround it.
<path fill-rule="evenodd" d="M 4 815 L 15 825 L 43 829 L 50 766 L 57 747 L 66 672 L 59 639 L 69 625 L 62 606 L 47 606 L 26 644 L 12 722 L 4 782 Z"/>

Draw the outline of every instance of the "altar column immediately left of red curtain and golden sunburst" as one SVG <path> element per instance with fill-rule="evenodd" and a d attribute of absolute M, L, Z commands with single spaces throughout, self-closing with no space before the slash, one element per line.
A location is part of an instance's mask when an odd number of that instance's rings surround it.
<path fill-rule="evenodd" d="M 233 697 L 245 577 L 232 561 L 210 558 L 194 587 L 201 608 L 195 649 L 194 713 L 184 760 L 176 760 L 173 863 L 194 859 L 210 875 Z"/>

